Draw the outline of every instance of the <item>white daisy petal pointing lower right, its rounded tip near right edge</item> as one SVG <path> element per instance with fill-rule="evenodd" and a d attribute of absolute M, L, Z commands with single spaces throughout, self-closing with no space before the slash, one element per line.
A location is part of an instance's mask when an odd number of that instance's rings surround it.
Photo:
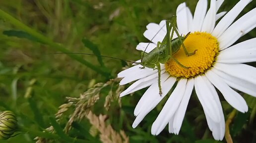
<path fill-rule="evenodd" d="M 205 73 L 210 82 L 222 93 L 226 101 L 234 108 L 241 112 L 248 111 L 248 106 L 244 98 L 230 88 L 218 75 L 208 70 Z"/>

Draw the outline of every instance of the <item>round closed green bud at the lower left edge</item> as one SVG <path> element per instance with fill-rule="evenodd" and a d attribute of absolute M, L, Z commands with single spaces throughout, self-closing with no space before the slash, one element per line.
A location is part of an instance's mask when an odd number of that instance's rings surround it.
<path fill-rule="evenodd" d="M 0 140 L 7 140 L 17 128 L 17 119 L 12 111 L 0 112 Z"/>

